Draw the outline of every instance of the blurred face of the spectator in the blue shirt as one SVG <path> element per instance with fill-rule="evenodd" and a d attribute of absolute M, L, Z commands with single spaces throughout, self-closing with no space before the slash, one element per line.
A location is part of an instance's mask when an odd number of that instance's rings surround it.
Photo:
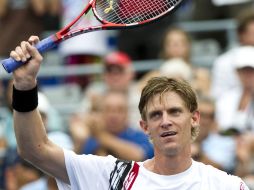
<path fill-rule="evenodd" d="M 128 108 L 126 97 L 120 93 L 111 93 L 103 101 L 103 117 L 106 129 L 117 134 L 127 127 Z"/>

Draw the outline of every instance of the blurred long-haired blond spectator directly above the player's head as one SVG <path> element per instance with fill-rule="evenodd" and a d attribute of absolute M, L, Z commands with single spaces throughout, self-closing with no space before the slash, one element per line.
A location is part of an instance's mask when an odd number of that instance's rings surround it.
<path fill-rule="evenodd" d="M 210 72 L 208 69 L 203 67 L 196 67 L 191 62 L 191 38 L 189 34 L 179 27 L 169 27 L 165 33 L 162 40 L 162 47 L 160 52 L 160 57 L 163 60 L 163 64 L 159 70 L 164 70 L 164 67 L 169 67 L 163 71 L 165 76 L 166 70 L 169 69 L 180 69 L 184 68 L 186 75 L 188 72 L 189 77 L 183 77 L 188 80 L 195 90 L 200 94 L 210 93 Z M 179 66 L 177 66 L 179 63 Z M 172 64 L 171 66 L 169 66 Z M 177 73 L 182 73 L 182 71 L 177 71 Z M 189 70 L 189 71 L 187 71 Z M 190 71 L 191 70 L 191 71 Z M 168 72 L 168 77 L 174 77 L 173 72 Z M 160 71 L 154 70 L 145 74 L 139 81 L 142 88 L 143 84 L 146 83 L 149 78 L 153 76 L 160 75 Z"/>

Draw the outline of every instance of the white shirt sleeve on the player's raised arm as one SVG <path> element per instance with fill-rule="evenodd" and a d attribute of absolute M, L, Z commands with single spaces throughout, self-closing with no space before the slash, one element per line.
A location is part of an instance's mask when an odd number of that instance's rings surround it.
<path fill-rule="evenodd" d="M 70 185 L 56 179 L 59 190 L 107 189 L 116 158 L 77 155 L 69 150 L 64 150 L 64 156 Z"/>

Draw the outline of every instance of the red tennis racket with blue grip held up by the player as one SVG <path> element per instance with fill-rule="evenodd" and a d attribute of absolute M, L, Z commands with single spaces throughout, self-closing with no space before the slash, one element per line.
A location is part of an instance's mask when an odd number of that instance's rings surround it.
<path fill-rule="evenodd" d="M 55 48 L 60 42 L 79 34 L 109 29 L 123 29 L 140 26 L 165 16 L 183 0 L 90 0 L 69 25 L 56 34 L 40 41 L 36 48 L 44 53 Z M 76 24 L 92 9 L 93 15 L 101 25 L 78 27 Z M 10 73 L 24 64 L 8 58 L 2 61 L 4 69 Z"/>

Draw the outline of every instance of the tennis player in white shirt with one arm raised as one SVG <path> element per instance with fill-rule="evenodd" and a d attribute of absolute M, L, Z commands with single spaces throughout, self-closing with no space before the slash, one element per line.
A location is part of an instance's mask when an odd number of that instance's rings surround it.
<path fill-rule="evenodd" d="M 193 89 L 183 81 L 153 78 L 142 91 L 140 126 L 154 145 L 152 159 L 76 155 L 52 143 L 37 109 L 38 41 L 32 36 L 11 52 L 15 60 L 29 60 L 13 73 L 14 127 L 19 154 L 54 176 L 60 190 L 248 190 L 240 178 L 192 160 L 200 113 Z"/>

